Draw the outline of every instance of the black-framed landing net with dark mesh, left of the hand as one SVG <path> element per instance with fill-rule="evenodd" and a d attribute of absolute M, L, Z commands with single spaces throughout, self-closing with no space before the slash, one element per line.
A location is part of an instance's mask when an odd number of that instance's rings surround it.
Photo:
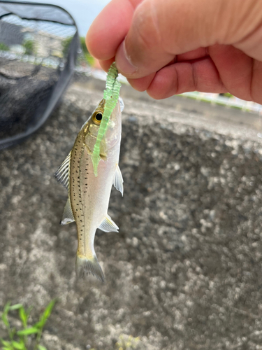
<path fill-rule="evenodd" d="M 48 118 L 68 84 L 78 31 L 57 6 L 0 1 L 0 148 Z"/>

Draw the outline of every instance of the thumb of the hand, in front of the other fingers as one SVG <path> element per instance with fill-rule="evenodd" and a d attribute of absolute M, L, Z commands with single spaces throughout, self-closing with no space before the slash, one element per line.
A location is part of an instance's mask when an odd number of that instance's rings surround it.
<path fill-rule="evenodd" d="M 180 55 L 216 43 L 235 45 L 262 60 L 262 0 L 145 0 L 116 54 L 127 78 L 159 71 Z M 260 26 L 254 42 L 250 36 Z M 260 43 L 260 45 L 259 45 Z"/>

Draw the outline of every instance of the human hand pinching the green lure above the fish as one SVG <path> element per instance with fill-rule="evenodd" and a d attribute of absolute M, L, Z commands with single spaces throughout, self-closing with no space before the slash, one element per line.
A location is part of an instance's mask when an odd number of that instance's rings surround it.
<path fill-rule="evenodd" d="M 262 104 L 262 0 L 112 0 L 86 43 L 154 99 L 230 92 Z"/>

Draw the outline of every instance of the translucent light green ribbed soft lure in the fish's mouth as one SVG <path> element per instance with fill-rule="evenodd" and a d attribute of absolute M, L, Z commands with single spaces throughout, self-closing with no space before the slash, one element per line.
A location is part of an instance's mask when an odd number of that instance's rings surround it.
<path fill-rule="evenodd" d="M 106 130 L 108 129 L 108 122 L 111 113 L 119 99 L 119 91 L 121 84 L 119 83 L 119 81 L 117 81 L 117 76 L 117 67 L 115 66 L 115 62 L 113 62 L 108 71 L 108 75 L 106 76 L 105 90 L 103 92 L 103 99 L 105 99 L 105 109 L 99 127 L 99 133 L 97 134 L 96 144 L 94 145 L 94 151 L 91 156 L 94 167 L 94 176 L 97 176 L 97 168 L 99 166 L 100 161 L 100 144 Z"/>

